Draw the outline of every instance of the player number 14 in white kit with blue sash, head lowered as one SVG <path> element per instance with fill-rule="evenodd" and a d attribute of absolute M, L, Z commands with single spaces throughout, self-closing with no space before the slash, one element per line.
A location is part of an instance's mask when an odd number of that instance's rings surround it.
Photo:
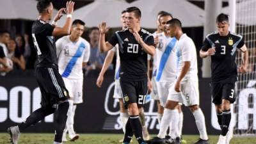
<path fill-rule="evenodd" d="M 81 38 L 83 32 L 84 22 L 76 19 L 72 22 L 71 34 L 63 36 L 56 42 L 59 72 L 70 96 L 63 141 L 67 141 L 67 131 L 70 141 L 79 138 L 79 134 L 74 131 L 74 115 L 77 104 L 83 103 L 83 68 L 86 67 L 90 57 L 90 44 Z"/>

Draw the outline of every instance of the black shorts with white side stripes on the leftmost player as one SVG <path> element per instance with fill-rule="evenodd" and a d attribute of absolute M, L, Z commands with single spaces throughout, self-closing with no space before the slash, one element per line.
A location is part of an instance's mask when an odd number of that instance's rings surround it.
<path fill-rule="evenodd" d="M 68 90 L 56 68 L 37 67 L 36 81 L 42 93 L 42 107 L 58 104 L 60 100 L 69 99 Z"/>

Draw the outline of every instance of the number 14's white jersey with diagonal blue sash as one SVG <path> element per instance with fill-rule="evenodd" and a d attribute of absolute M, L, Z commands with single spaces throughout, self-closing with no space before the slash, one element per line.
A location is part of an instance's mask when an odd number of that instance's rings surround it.
<path fill-rule="evenodd" d="M 70 36 L 56 42 L 59 73 L 68 79 L 83 79 L 83 62 L 90 58 L 90 44 L 83 38 L 74 43 Z"/>

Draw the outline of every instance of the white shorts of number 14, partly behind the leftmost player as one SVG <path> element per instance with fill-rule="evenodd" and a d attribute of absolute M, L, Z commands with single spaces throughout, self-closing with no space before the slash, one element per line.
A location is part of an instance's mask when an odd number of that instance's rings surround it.
<path fill-rule="evenodd" d="M 63 77 L 63 81 L 70 99 L 74 100 L 74 104 L 83 103 L 83 79 L 67 79 Z"/>

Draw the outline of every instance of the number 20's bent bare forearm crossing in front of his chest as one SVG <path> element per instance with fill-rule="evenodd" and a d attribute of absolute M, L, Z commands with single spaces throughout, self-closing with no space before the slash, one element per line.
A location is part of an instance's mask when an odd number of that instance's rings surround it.
<path fill-rule="evenodd" d="M 156 52 L 156 48 L 153 45 L 147 45 L 140 37 L 138 31 L 135 31 L 133 33 L 135 39 L 137 40 L 137 42 L 141 45 L 141 47 L 144 49 L 144 51 L 146 51 L 148 54 L 150 54 L 151 56 L 154 56 L 155 52 Z M 154 41 L 153 41 L 154 43 Z"/>

